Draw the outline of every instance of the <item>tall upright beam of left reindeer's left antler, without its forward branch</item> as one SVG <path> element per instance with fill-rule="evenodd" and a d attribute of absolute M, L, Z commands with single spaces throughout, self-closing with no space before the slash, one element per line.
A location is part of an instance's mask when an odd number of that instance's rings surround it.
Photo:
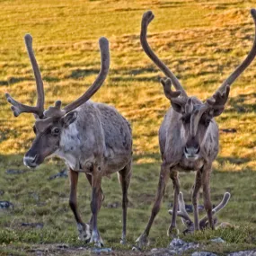
<path fill-rule="evenodd" d="M 43 81 L 40 75 L 40 68 L 38 66 L 37 60 L 34 56 L 33 49 L 32 49 L 32 37 L 30 34 L 26 34 L 24 37 L 26 48 L 28 51 L 28 55 L 31 59 L 31 66 L 33 68 L 34 76 L 36 79 L 37 84 L 37 93 L 38 93 L 38 100 L 37 100 L 37 107 L 40 111 L 40 118 L 43 116 L 44 111 L 44 89 L 43 89 Z"/>

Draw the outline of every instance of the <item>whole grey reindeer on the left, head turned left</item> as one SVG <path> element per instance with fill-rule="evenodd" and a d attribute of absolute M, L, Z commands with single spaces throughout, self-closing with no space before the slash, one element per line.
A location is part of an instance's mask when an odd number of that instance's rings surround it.
<path fill-rule="evenodd" d="M 35 168 L 46 157 L 57 155 L 66 161 L 69 168 L 71 207 L 79 239 L 103 245 L 97 227 L 97 216 L 102 206 L 102 177 L 118 172 L 122 189 L 122 238 L 126 243 L 128 186 L 131 178 L 132 137 L 128 121 L 117 110 L 106 104 L 89 101 L 102 86 L 110 67 L 109 42 L 99 40 L 102 66 L 91 87 L 80 98 L 61 108 L 61 102 L 44 110 L 44 89 L 40 69 L 32 50 L 32 38 L 27 34 L 25 44 L 31 59 L 36 84 L 37 105 L 27 106 L 15 101 L 5 93 L 15 117 L 22 112 L 33 113 L 36 121 L 33 126 L 36 137 L 30 150 L 24 155 L 23 163 Z M 84 224 L 77 209 L 77 181 L 79 172 L 84 172 L 92 187 L 91 220 Z"/>

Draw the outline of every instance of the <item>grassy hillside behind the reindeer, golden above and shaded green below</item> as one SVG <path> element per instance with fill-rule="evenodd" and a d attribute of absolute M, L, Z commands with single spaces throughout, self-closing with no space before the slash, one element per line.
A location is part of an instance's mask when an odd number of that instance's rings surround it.
<path fill-rule="evenodd" d="M 68 181 L 48 181 L 49 175 L 58 172 L 64 163 L 54 159 L 46 161 L 35 172 L 5 173 L 10 168 L 25 170 L 22 154 L 33 137 L 32 115 L 13 118 L 4 98 L 4 92 L 8 91 L 23 103 L 35 102 L 34 78 L 22 39 L 25 33 L 33 36 L 47 106 L 57 99 L 64 104 L 71 102 L 93 83 L 100 67 L 98 40 L 101 36 L 110 40 L 110 74 L 93 101 L 115 106 L 133 128 L 135 161 L 128 211 L 128 235 L 132 243 L 145 227 L 154 200 L 160 163 L 157 132 L 170 106 L 159 83 L 163 74 L 146 57 L 139 43 L 142 14 L 149 9 L 155 14 L 148 40 L 158 56 L 181 79 L 187 93 L 204 100 L 251 49 L 254 30 L 250 8 L 255 5 L 255 1 L 238 0 L 1 1 L 0 190 L 4 195 L 0 195 L 0 199 L 10 200 L 15 206 L 8 214 L 0 212 L 2 232 L 11 229 L 19 236 L 22 222 L 41 221 L 44 229 L 63 234 L 54 235 L 58 242 L 70 242 L 68 239 L 76 235 L 75 221 L 67 206 Z M 256 172 L 252 172 L 256 171 L 255 68 L 254 61 L 232 85 L 225 112 L 217 118 L 221 130 L 235 129 L 235 132 L 221 131 L 221 149 L 212 175 L 214 203 L 225 190 L 232 193 L 221 219 L 243 226 L 256 226 Z M 193 173 L 181 175 L 181 188 L 188 202 L 193 177 Z M 88 218 L 90 190 L 84 177 L 81 180 L 80 207 Z M 110 204 L 120 202 L 115 175 L 103 181 L 103 190 L 106 200 L 99 217 L 100 230 L 105 241 L 117 243 L 121 208 L 119 205 L 110 208 Z M 171 186 L 155 222 L 153 238 L 165 234 L 170 201 Z M 3 240 L 5 236 L 2 233 L 0 243 L 1 239 L 8 243 Z M 69 238 L 65 239 L 66 236 Z M 40 236 L 36 237 L 41 241 Z"/>

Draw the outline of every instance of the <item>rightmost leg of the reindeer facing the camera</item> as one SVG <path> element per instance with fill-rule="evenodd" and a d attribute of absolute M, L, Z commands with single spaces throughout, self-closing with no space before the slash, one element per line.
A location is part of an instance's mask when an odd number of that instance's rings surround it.
<path fill-rule="evenodd" d="M 207 211 L 208 223 L 212 229 L 215 229 L 213 222 L 213 214 L 212 214 L 212 204 L 210 199 L 210 172 L 211 166 L 204 166 L 202 173 L 202 184 L 203 184 L 203 197 L 204 197 L 204 207 Z"/>

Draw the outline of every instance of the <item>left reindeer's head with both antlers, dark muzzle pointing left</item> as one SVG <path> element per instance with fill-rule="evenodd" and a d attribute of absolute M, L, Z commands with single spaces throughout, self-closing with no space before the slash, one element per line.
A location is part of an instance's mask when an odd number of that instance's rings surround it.
<path fill-rule="evenodd" d="M 75 102 L 71 102 L 63 109 L 61 109 L 61 102 L 57 101 L 55 102 L 54 107 L 49 107 L 48 110 L 44 110 L 43 82 L 39 66 L 32 50 L 32 37 L 27 34 L 24 39 L 37 84 L 37 105 L 24 105 L 15 101 L 9 93 L 5 93 L 5 96 L 7 101 L 12 104 L 11 109 L 13 110 L 15 117 L 18 117 L 22 112 L 33 113 L 35 116 L 36 121 L 33 129 L 36 137 L 32 142 L 30 150 L 23 158 L 25 165 L 35 168 L 42 163 L 47 156 L 57 151 L 62 130 L 75 122 L 75 119 L 77 118 L 75 109 L 84 102 L 87 102 L 102 86 L 110 67 L 110 52 L 108 40 L 101 38 L 99 44 L 102 55 L 102 66 L 101 71 L 92 86 L 80 98 L 75 100 Z"/>

